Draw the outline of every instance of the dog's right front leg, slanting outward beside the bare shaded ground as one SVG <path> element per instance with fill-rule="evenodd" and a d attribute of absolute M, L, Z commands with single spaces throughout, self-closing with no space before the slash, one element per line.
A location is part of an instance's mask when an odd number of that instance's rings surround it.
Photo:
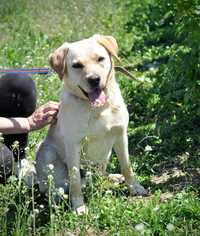
<path fill-rule="evenodd" d="M 132 195 L 146 195 L 147 191 L 140 185 L 133 173 L 128 153 L 128 137 L 126 130 L 122 130 L 114 144 L 114 150 L 118 156 L 121 172 Z"/>

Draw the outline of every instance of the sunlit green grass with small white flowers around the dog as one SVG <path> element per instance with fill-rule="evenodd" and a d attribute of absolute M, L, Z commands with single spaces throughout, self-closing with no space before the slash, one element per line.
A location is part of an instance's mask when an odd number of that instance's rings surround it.
<path fill-rule="evenodd" d="M 118 35 L 122 29 L 116 11 L 111 0 L 2 0 L 0 67 L 48 66 L 49 53 L 63 41 L 96 32 Z M 59 99 L 61 85 L 56 75 L 35 76 L 34 80 L 38 105 Z M 127 84 L 134 88 L 122 81 L 124 93 Z M 198 161 L 192 164 L 187 154 L 172 160 L 156 152 L 150 142 L 155 138 L 151 136 L 154 126 L 151 123 L 133 129 L 130 122 L 132 165 L 150 196 L 130 197 L 123 184 L 114 185 L 106 177 L 93 174 L 84 189 L 89 213 L 77 216 L 70 210 L 68 196 L 55 204 L 51 194 L 45 198 L 36 187 L 28 189 L 12 176 L 6 185 L 0 185 L 0 235 L 200 235 Z M 30 134 L 31 159 L 46 131 Z M 109 171 L 119 171 L 114 155 Z"/>

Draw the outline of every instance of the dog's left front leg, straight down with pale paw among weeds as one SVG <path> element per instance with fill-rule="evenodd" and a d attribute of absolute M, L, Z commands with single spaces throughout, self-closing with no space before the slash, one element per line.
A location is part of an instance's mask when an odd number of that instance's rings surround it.
<path fill-rule="evenodd" d="M 87 213 L 81 191 L 80 145 L 73 142 L 65 144 L 65 161 L 69 171 L 70 200 L 72 208 L 78 215 Z"/>

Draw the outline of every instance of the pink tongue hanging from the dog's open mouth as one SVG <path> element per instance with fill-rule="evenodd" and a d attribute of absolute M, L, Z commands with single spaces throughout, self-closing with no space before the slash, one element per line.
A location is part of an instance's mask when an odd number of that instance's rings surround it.
<path fill-rule="evenodd" d="M 88 93 L 89 100 L 94 107 L 101 107 L 106 102 L 106 95 L 103 90 L 95 89 Z"/>

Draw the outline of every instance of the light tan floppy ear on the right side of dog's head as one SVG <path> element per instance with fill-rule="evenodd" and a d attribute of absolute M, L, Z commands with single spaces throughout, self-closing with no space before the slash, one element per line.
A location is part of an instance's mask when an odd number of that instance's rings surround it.
<path fill-rule="evenodd" d="M 106 50 L 118 61 L 120 61 L 118 57 L 118 45 L 117 41 L 114 37 L 108 35 L 95 34 L 97 42 L 101 44 Z"/>

